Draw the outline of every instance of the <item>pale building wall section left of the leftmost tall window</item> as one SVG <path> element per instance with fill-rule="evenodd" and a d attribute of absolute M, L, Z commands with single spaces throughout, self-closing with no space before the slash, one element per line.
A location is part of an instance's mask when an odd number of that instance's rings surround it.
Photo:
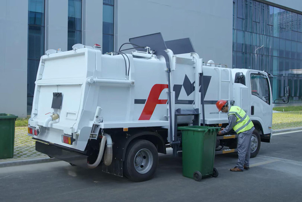
<path fill-rule="evenodd" d="M 0 0 L 0 113 L 27 115 L 27 0 Z"/>

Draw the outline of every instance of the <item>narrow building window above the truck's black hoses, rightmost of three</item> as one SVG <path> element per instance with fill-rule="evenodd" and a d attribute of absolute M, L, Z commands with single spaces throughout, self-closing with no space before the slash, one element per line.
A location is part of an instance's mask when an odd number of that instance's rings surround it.
<path fill-rule="evenodd" d="M 114 0 L 103 0 L 103 53 L 113 51 Z"/>

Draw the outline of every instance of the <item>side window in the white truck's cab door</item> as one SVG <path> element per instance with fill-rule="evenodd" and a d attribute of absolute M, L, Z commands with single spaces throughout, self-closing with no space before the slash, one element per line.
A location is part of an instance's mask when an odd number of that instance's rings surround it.
<path fill-rule="evenodd" d="M 251 74 L 251 89 L 252 95 L 259 97 L 267 104 L 271 104 L 268 79 L 265 75 Z"/>

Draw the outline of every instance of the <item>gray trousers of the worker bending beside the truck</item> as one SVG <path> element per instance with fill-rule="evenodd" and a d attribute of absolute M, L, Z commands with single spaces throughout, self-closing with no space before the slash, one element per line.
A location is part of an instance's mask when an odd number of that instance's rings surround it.
<path fill-rule="evenodd" d="M 236 167 L 243 169 L 243 165 L 249 167 L 249 158 L 251 156 L 251 138 L 252 133 L 255 130 L 254 127 L 252 129 L 239 133 L 238 136 L 238 162 Z"/>

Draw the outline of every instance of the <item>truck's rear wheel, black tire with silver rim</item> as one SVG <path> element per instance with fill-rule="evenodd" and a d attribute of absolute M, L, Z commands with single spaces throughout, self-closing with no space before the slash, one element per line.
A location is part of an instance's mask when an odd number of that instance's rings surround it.
<path fill-rule="evenodd" d="M 130 143 L 124 161 L 124 175 L 134 182 L 153 177 L 158 165 L 158 152 L 153 143 L 139 139 Z"/>

